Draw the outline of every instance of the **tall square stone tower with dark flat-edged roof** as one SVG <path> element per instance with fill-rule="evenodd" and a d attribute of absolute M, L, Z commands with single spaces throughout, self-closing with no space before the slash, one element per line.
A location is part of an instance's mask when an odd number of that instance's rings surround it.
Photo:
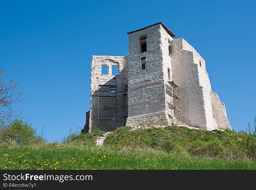
<path fill-rule="evenodd" d="M 129 35 L 127 125 L 168 125 L 173 118 L 167 97 L 172 76 L 169 43 L 175 35 L 162 23 Z M 169 68 L 169 70 L 168 70 Z"/>

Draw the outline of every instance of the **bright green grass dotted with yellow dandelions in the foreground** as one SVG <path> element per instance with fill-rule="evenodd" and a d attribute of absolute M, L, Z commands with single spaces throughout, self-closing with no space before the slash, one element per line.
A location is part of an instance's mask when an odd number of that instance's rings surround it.
<path fill-rule="evenodd" d="M 256 169 L 255 162 L 59 144 L 1 149 L 0 169 Z"/>

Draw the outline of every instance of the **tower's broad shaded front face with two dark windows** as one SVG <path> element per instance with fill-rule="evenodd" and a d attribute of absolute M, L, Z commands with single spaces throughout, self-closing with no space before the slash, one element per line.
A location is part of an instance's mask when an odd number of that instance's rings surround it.
<path fill-rule="evenodd" d="M 129 34 L 128 57 L 128 118 L 127 125 L 168 124 L 166 117 L 165 85 L 161 24 Z M 141 40 L 146 37 L 147 51 L 141 53 Z M 141 58 L 145 57 L 145 60 Z M 145 69 L 142 64 L 145 62 Z M 155 113 L 155 114 L 152 114 Z M 147 115 L 149 114 L 149 115 Z M 163 116 L 159 116 L 163 114 Z M 147 120 L 151 117 L 151 120 Z M 154 119 L 155 118 L 155 119 Z"/>

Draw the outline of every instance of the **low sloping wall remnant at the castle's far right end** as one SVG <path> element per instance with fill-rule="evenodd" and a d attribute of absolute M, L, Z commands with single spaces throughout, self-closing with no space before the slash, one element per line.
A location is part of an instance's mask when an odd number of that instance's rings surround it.
<path fill-rule="evenodd" d="M 227 120 L 227 114 L 224 103 L 221 103 L 218 94 L 211 91 L 211 104 L 213 117 L 216 120 L 219 129 L 230 129 L 231 126 Z"/>

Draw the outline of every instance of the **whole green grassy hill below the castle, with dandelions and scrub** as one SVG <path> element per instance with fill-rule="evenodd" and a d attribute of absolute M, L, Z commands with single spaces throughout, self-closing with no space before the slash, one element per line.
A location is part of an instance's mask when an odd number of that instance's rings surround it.
<path fill-rule="evenodd" d="M 1 143 L 0 169 L 256 169 L 256 136 L 166 126 L 120 127 L 95 146 L 94 133 L 62 143 Z"/>

